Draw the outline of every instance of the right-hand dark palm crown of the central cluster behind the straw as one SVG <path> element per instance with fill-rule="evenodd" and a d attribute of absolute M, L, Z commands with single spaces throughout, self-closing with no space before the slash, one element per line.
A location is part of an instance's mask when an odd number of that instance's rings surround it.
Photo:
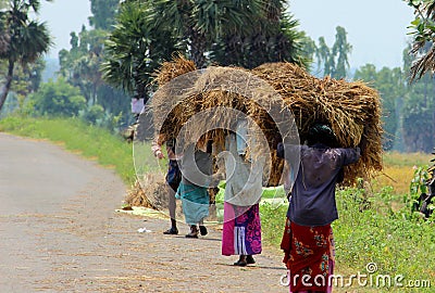
<path fill-rule="evenodd" d="M 307 38 L 297 30 L 299 23 L 286 13 L 286 1 L 265 1 L 252 29 L 225 28 L 212 46 L 211 60 L 220 65 L 253 68 L 268 62 L 306 65 Z"/>

